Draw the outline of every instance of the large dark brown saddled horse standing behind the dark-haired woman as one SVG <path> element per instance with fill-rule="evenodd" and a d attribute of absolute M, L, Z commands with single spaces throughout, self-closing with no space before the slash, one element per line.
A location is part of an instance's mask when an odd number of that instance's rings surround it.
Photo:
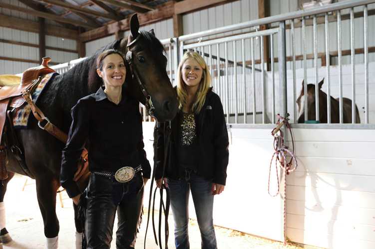
<path fill-rule="evenodd" d="M 61 75 L 54 75 L 49 80 L 42 95 L 39 96 L 37 106 L 48 117 L 50 122 L 68 133 L 71 116 L 70 110 L 77 101 L 89 94 L 95 93 L 101 86 L 101 79 L 96 74 L 96 57 L 106 49 L 117 49 L 124 54 L 131 64 L 132 82 L 126 82 L 127 92 L 146 104 L 150 114 L 158 121 L 174 118 L 177 112 L 177 95 L 166 72 L 167 59 L 163 55 L 164 48 L 155 37 L 153 31 L 138 31 L 139 23 L 134 14 L 130 20 L 130 34 L 128 39 L 116 40 L 102 47 L 96 53 L 76 64 L 72 69 Z M 147 102 L 147 103 L 146 103 Z M 56 238 L 59 232 L 59 222 L 56 216 L 56 191 L 60 186 L 59 174 L 61 150 L 63 142 L 46 131 L 40 129 L 36 119 L 30 115 L 29 127 L 17 129 L 16 136 L 22 146 L 25 163 L 29 170 L 29 177 L 36 182 L 36 194 L 44 223 L 44 235 Z M 9 151 L 6 168 L 8 178 L 0 184 L 0 202 L 6 191 L 6 184 L 14 172 L 26 175 Z M 75 217 L 77 207 L 74 206 Z M 0 217 L 1 219 L 1 217 Z M 82 232 L 80 223 L 75 220 L 78 233 Z M 5 227 L 1 227 L 1 238 L 11 240 Z M 48 243 L 47 243 L 48 244 Z M 77 244 L 79 248 L 79 243 Z M 47 246 L 57 248 L 56 246 Z"/>

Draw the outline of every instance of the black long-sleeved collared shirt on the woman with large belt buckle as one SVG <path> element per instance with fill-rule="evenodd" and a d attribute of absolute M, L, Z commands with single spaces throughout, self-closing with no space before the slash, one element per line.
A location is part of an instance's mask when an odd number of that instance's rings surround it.
<path fill-rule="evenodd" d="M 138 101 L 122 93 L 118 105 L 108 100 L 103 88 L 80 99 L 71 110 L 72 124 L 62 150 L 60 181 L 69 197 L 80 192 L 73 181 L 83 147 L 88 141 L 89 170 L 116 172 L 124 166 L 142 165 L 143 177 L 151 167 L 143 147 L 142 117 Z"/>

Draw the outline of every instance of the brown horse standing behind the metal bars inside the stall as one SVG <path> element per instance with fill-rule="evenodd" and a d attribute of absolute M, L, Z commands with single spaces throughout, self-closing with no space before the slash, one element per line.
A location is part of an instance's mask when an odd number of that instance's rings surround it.
<path fill-rule="evenodd" d="M 324 83 L 324 78 L 319 82 L 319 121 L 320 123 L 328 123 L 328 105 L 327 105 L 327 94 L 322 91 L 322 85 Z M 307 118 L 308 120 L 316 120 L 316 109 L 315 109 L 315 85 L 307 85 L 307 103 L 305 102 L 305 89 L 304 81 L 302 81 L 302 90 L 300 96 L 297 99 L 298 105 L 298 123 L 305 123 L 305 105 L 307 105 Z M 340 123 L 340 108 L 339 108 L 339 98 L 331 99 L 331 123 Z M 352 100 L 348 98 L 343 98 L 343 123 L 352 123 Z M 356 123 L 361 123 L 360 113 L 356 105 Z"/>

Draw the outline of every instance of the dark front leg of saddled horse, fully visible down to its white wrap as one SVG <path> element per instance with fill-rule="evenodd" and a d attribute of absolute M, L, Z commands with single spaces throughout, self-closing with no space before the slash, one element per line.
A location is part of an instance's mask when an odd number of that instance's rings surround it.
<path fill-rule="evenodd" d="M 56 192 L 60 184 L 54 177 L 40 176 L 36 180 L 36 196 L 44 223 L 47 249 L 58 248 L 59 223 L 56 216 Z"/>

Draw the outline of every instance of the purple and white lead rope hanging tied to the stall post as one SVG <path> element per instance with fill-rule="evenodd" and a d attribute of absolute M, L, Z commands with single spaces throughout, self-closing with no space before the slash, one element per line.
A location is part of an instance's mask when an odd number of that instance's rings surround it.
<path fill-rule="evenodd" d="M 289 114 L 286 115 L 286 117 L 282 117 L 279 114 L 277 115 L 278 121 L 277 121 L 277 127 L 274 128 L 271 131 L 272 136 L 274 137 L 274 150 L 275 152 L 272 155 L 271 162 L 270 162 L 270 171 L 268 174 L 268 194 L 272 197 L 277 196 L 280 193 L 280 179 L 278 174 L 278 165 L 280 169 L 283 169 L 285 171 L 284 174 L 284 246 L 287 245 L 287 175 L 289 175 L 291 172 L 295 171 L 298 166 L 298 162 L 296 159 L 296 156 L 294 155 L 294 137 L 292 133 L 291 125 L 289 124 Z M 293 150 L 291 151 L 287 145 L 284 144 L 284 134 L 281 130 L 281 127 L 284 125 L 287 126 L 289 129 L 291 139 L 292 139 L 292 146 Z M 289 162 L 287 162 L 287 156 L 290 156 Z M 270 193 L 270 179 L 271 179 L 271 168 L 272 168 L 272 162 L 274 160 L 274 157 L 276 157 L 275 160 L 275 171 L 276 171 L 276 177 L 277 177 L 277 192 L 276 194 Z M 279 162 L 279 163 L 278 163 Z M 294 166 L 293 166 L 294 164 Z"/>

